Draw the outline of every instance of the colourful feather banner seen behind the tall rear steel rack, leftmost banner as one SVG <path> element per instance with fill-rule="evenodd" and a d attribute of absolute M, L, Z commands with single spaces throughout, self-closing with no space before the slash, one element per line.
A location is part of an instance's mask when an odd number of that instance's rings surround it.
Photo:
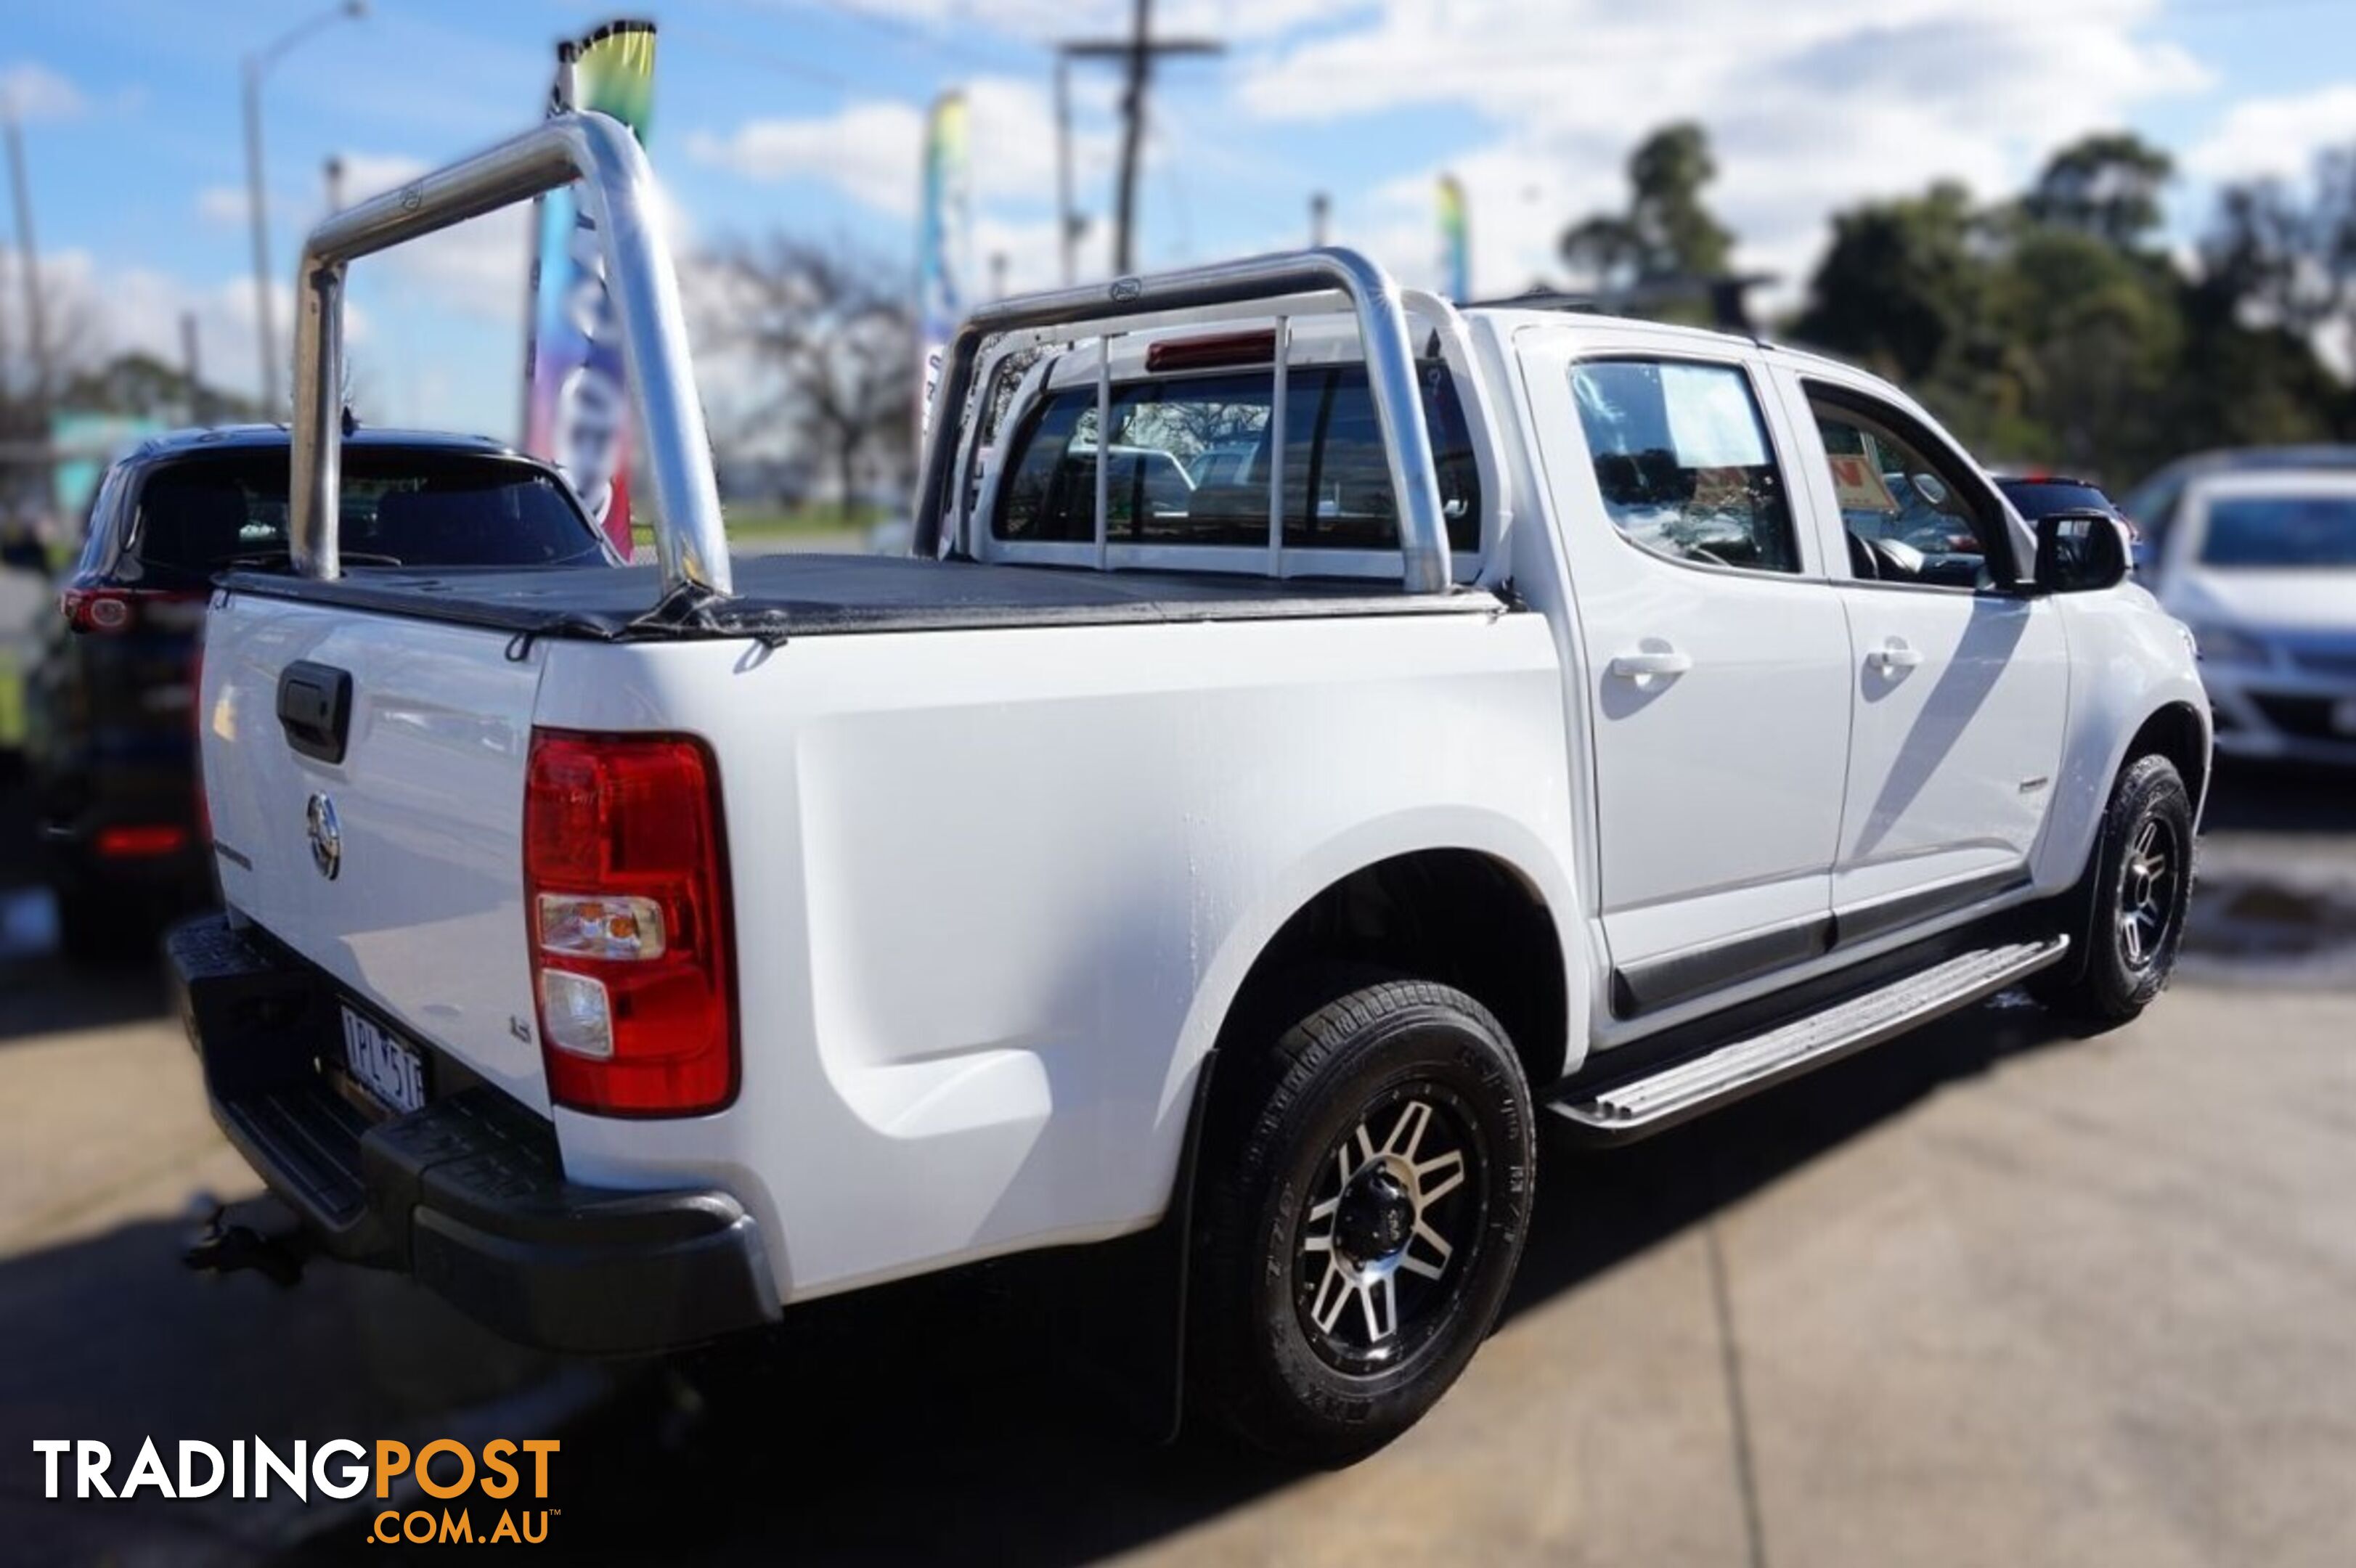
<path fill-rule="evenodd" d="M 655 24 L 608 21 L 556 45 L 549 113 L 594 108 L 646 141 L 655 101 Z M 580 492 L 605 537 L 629 553 L 629 391 L 622 334 L 605 299 L 596 219 L 570 186 L 535 207 L 525 308 L 523 447 Z"/>

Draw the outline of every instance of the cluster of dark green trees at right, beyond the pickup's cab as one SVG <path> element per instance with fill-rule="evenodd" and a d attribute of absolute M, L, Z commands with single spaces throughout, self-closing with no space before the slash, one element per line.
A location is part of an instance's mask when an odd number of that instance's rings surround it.
<path fill-rule="evenodd" d="M 1993 461 L 2125 485 L 2189 450 L 2347 431 L 2316 334 L 2356 318 L 2356 158 L 2226 191 L 2196 275 L 2158 245 L 2168 155 L 2057 151 L 2017 200 L 1953 184 L 1833 219 L 1802 341 L 1906 384 Z"/>

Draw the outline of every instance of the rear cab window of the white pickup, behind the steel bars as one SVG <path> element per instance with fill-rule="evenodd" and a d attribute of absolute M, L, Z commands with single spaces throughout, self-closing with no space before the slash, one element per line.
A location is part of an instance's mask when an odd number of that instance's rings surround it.
<path fill-rule="evenodd" d="M 1480 549 L 1480 469 L 1442 365 L 1421 374 L 1449 549 Z M 1286 372 L 1284 546 L 1399 549 L 1383 431 L 1364 365 Z M 1112 388 L 1105 532 L 1112 544 L 1268 544 L 1275 377 L 1239 370 Z M 990 532 L 1006 542 L 1096 539 L 1096 386 L 1048 393 L 1025 419 Z"/>

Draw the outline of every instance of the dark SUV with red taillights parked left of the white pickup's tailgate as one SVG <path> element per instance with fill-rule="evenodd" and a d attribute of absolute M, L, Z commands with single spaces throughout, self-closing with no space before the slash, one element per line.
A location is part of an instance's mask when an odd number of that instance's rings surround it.
<path fill-rule="evenodd" d="M 492 440 L 356 431 L 342 511 L 356 567 L 598 565 L 554 469 Z M 28 798 L 68 954 L 123 946 L 207 897 L 198 629 L 224 570 L 287 570 L 287 431 L 158 436 L 99 483 L 28 678 Z"/>

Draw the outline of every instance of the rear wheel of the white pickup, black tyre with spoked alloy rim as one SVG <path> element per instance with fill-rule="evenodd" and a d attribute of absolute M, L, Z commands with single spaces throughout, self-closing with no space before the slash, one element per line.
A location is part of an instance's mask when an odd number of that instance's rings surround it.
<path fill-rule="evenodd" d="M 1338 1464 L 1496 1323 L 1536 1154 L 1522 1064 L 1463 991 L 1383 979 L 1293 1017 L 1213 1081 L 1187 1387 L 1246 1443 Z"/>

